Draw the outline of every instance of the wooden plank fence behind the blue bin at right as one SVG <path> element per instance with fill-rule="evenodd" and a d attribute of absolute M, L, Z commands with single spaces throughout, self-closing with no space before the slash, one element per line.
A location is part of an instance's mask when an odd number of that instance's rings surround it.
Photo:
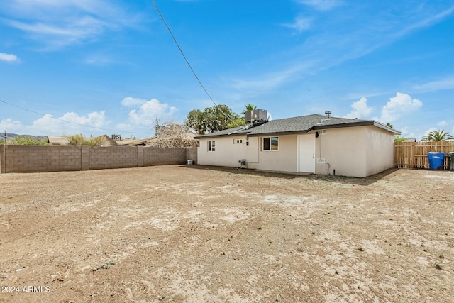
<path fill-rule="evenodd" d="M 394 167 L 427 169 L 427 153 L 445 153 L 444 169 L 449 170 L 448 153 L 454 152 L 454 141 L 395 142 Z"/>

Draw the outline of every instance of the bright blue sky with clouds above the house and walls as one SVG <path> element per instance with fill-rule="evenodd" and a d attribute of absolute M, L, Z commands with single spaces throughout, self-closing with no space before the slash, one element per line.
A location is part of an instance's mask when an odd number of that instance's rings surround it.
<path fill-rule="evenodd" d="M 454 0 L 155 0 L 217 104 L 454 135 Z M 213 106 L 152 0 L 0 3 L 0 131 L 153 136 Z M 5 103 L 6 102 L 6 103 Z"/>

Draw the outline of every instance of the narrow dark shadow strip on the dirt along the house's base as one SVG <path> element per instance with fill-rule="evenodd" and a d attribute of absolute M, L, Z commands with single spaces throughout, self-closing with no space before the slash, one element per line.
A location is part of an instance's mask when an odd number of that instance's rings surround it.
<path fill-rule="evenodd" d="M 181 165 L 186 167 L 189 170 L 216 170 L 218 172 L 230 172 L 231 174 L 238 175 L 254 175 L 260 177 L 270 177 L 270 178 L 279 178 L 279 179 L 307 179 L 307 180 L 323 180 L 326 182 L 338 183 L 338 184 L 355 184 L 367 186 L 373 184 L 382 178 L 391 175 L 393 172 L 396 172 L 397 168 L 390 168 L 389 170 L 384 170 L 376 175 L 369 177 L 343 177 L 343 176 L 333 176 L 333 175 L 314 175 L 311 173 L 299 173 L 299 172 L 271 172 L 265 170 L 251 170 L 239 167 L 223 167 L 223 166 L 211 166 L 211 165 Z"/>

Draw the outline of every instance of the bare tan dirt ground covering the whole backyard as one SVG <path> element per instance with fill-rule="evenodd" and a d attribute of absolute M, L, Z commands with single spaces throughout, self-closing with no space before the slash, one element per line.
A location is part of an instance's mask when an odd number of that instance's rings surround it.
<path fill-rule="evenodd" d="M 454 302 L 454 173 L 0 175 L 0 302 Z"/>

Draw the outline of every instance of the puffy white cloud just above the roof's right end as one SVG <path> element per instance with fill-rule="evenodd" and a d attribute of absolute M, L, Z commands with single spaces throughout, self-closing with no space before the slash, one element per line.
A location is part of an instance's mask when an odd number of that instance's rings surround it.
<path fill-rule="evenodd" d="M 412 99 L 409 94 L 398 92 L 396 97 L 389 98 L 387 104 L 383 106 L 380 121 L 384 123 L 396 121 L 402 114 L 417 111 L 422 105 L 421 101 Z"/>

